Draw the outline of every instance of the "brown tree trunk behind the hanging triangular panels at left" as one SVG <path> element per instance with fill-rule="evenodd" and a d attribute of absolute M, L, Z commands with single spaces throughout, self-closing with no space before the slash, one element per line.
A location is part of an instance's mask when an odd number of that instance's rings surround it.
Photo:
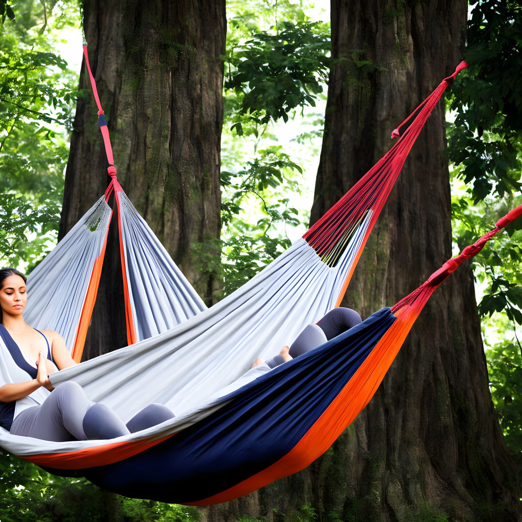
<path fill-rule="evenodd" d="M 219 278 L 192 250 L 220 234 L 224 0 L 84 1 L 89 58 L 118 181 L 207 304 Z M 106 157 L 85 67 L 80 75 L 60 238 L 105 191 Z M 115 216 L 84 359 L 127 344 Z M 219 259 L 219 251 L 212 252 Z"/>

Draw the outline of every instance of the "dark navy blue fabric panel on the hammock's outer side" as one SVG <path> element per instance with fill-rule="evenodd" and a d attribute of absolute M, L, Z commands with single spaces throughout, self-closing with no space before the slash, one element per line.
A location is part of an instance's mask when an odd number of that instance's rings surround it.
<path fill-rule="evenodd" d="M 202 499 L 218 503 L 258 489 L 267 482 L 263 478 L 259 483 L 258 473 L 271 482 L 289 474 L 289 469 L 302 469 L 330 445 L 325 448 L 321 441 L 324 412 L 339 400 L 342 389 L 395 320 L 389 308 L 376 312 L 321 349 L 225 396 L 226 407 L 168 441 L 89 470 L 85 476 L 122 495 L 171 502 L 175 492 L 178 503 L 201 504 Z M 312 431 L 314 447 L 299 448 L 296 455 L 295 448 Z"/>

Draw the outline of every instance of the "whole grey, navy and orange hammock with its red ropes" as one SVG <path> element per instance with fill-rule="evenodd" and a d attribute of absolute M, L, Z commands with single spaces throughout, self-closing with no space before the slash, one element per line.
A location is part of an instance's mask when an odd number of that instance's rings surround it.
<path fill-rule="evenodd" d="M 69 264 L 81 265 L 90 275 L 79 283 L 75 298 L 61 306 L 60 299 L 52 302 L 53 296 L 48 295 L 43 309 L 52 308 L 60 317 L 55 324 L 62 328 L 70 327 L 72 317 L 88 324 L 85 317 L 96 295 L 110 221 L 106 198 L 114 189 L 120 209 L 127 329 L 131 338 L 133 331 L 139 332 L 138 342 L 52 374 L 51 381 L 54 385 L 78 382 L 92 400 L 103 401 L 124 421 L 150 402 L 169 406 L 176 417 L 110 441 L 58 443 L 14 436 L 0 429 L 2 446 L 61 474 L 80 472 L 116 493 L 197 505 L 224 502 L 254 491 L 303 469 L 323 454 L 371 399 L 433 290 L 463 259 L 477 253 L 518 216 L 521 207 L 392 309 L 376 312 L 357 327 L 238 389 L 231 389 L 231 383 L 245 373 L 253 359 L 270 357 L 306 324 L 317 322 L 340 302 L 408 151 L 447 85 L 465 66 L 460 64 L 441 82 L 416 110 L 413 122 L 394 147 L 302 239 L 207 310 L 138 219 L 117 183 L 96 95 L 111 184 L 105 197 L 53 251 L 56 260 L 67 258 L 64 267 L 55 268 L 56 264 L 45 260 L 46 270 L 35 270 L 31 275 L 31 301 L 32 292 L 45 284 L 43 274 L 60 277 L 65 270 L 69 277 L 69 271 L 79 271 Z M 91 82 L 95 89 L 92 74 Z M 134 219 L 125 219 L 126 215 Z M 131 243 L 138 230 L 147 231 L 144 244 Z M 75 247 L 80 239 L 86 241 L 87 253 Z M 165 274 L 170 277 L 172 291 L 162 299 L 173 299 L 180 312 L 170 315 L 162 310 L 159 324 L 156 312 L 148 308 L 158 296 L 154 292 L 146 295 L 148 282 L 143 285 L 141 278 L 158 278 L 163 284 Z M 29 316 L 28 321 L 32 321 Z M 78 331 L 75 339 L 81 337 Z M 1 357 L 4 353 L 0 350 Z M 255 369 L 250 372 L 256 375 Z"/>

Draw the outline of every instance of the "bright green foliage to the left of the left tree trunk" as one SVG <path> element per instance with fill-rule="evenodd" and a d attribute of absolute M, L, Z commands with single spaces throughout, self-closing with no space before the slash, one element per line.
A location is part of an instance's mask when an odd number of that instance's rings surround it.
<path fill-rule="evenodd" d="M 56 240 L 68 155 L 62 129 L 71 126 L 77 82 L 49 52 L 49 31 L 78 20 L 75 8 L 56 2 L 16 7 L 19 16 L 0 32 L 0 261 L 31 268 Z M 56 20 L 52 7 L 60 9 Z"/>

